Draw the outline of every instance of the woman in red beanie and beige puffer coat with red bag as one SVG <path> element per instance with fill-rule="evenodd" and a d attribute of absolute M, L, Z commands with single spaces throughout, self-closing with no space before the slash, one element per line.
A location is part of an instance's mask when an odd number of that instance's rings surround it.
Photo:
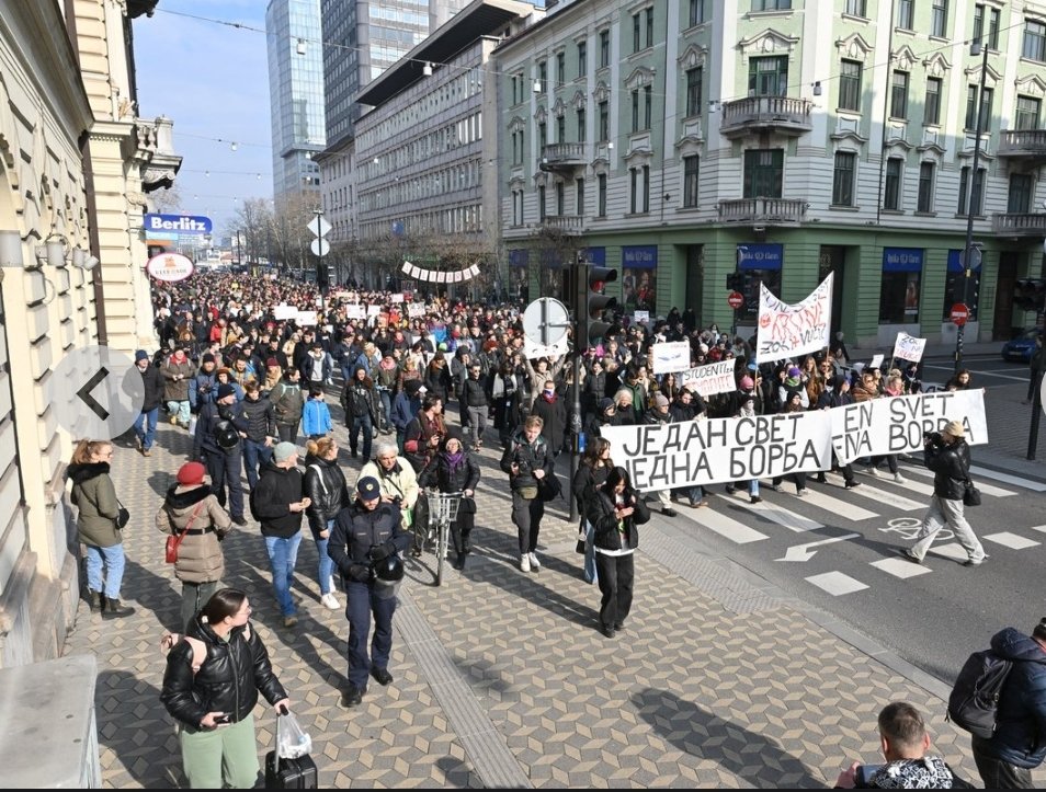
<path fill-rule="evenodd" d="M 221 539 L 232 530 L 232 519 L 211 492 L 207 469 L 200 462 L 186 462 L 177 482 L 167 491 L 156 513 L 161 533 L 180 537 L 174 576 L 182 582 L 182 611 L 179 630 L 207 604 L 221 587 L 225 555 Z"/>

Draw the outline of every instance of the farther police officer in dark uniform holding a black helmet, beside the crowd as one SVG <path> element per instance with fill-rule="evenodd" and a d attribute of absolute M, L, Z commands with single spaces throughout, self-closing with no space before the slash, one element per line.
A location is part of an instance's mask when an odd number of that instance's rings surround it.
<path fill-rule="evenodd" d="M 242 402 L 236 401 L 231 384 L 218 386 L 217 399 L 205 402 L 196 421 L 196 445 L 211 475 L 211 489 L 218 503 L 226 504 L 228 487 L 229 514 L 238 526 L 247 525 L 243 517 L 243 485 L 240 473 L 243 463 L 243 443 L 248 421 Z"/>

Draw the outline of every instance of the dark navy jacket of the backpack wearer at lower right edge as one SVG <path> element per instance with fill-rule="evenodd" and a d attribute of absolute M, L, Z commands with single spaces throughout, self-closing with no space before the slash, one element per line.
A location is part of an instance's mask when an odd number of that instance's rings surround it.
<path fill-rule="evenodd" d="M 992 636 L 991 651 L 1013 667 L 999 698 L 996 733 L 988 739 L 974 735 L 974 750 L 1017 767 L 1038 767 L 1046 759 L 1046 652 L 1012 627 Z"/>

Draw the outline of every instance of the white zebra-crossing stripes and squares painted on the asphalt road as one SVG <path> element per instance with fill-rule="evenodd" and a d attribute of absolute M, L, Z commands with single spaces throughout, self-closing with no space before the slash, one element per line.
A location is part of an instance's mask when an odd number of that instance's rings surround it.
<path fill-rule="evenodd" d="M 971 473 L 976 477 L 977 486 L 988 506 L 990 498 L 1012 497 L 1017 495 L 1020 490 L 1046 491 L 1046 485 L 1041 482 L 1010 473 L 976 467 L 971 469 Z M 736 544 L 752 544 L 772 538 L 780 539 L 782 536 L 793 537 L 789 539 L 789 542 L 794 542 L 789 553 L 782 558 L 781 553 L 775 552 L 775 560 L 780 561 L 801 558 L 796 555 L 800 543 L 810 543 L 811 531 L 818 531 L 821 536 L 830 536 L 831 529 L 864 528 L 864 536 L 871 536 L 869 530 L 886 531 L 886 544 L 901 547 L 911 540 L 921 525 L 922 513 L 928 508 L 933 494 L 933 473 L 918 466 L 906 466 L 901 468 L 901 474 L 903 480 L 895 481 L 859 473 L 857 481 L 861 485 L 846 490 L 842 475 L 828 473 L 827 483 L 814 483 L 810 480 L 803 496 L 795 493 L 792 482 L 786 482 L 781 492 L 773 492 L 769 481 L 760 482 L 760 494 L 763 497 L 761 503 L 751 503 L 748 493 L 738 490 L 731 494 L 718 494 L 719 496 L 713 498 L 710 508 L 685 514 L 701 528 L 712 530 Z M 993 483 L 987 483 L 986 479 Z M 905 516 L 895 517 L 898 513 Z M 886 518 L 886 526 L 882 526 L 883 518 Z M 880 524 L 873 521 L 876 519 L 880 520 Z M 1046 525 L 1028 526 L 1026 529 L 1013 526 L 1008 528 L 1010 529 L 980 537 L 989 556 L 997 552 L 1026 551 L 1046 541 L 1043 536 L 1046 535 Z M 787 533 L 782 533 L 781 529 Z M 803 535 L 806 535 L 805 538 L 800 538 Z M 862 535 L 853 535 L 854 538 L 860 536 Z M 876 539 L 882 538 L 876 536 Z M 837 542 L 841 540 L 850 540 L 850 537 L 841 537 Z M 829 548 L 818 550 L 826 555 L 832 552 Z M 956 562 L 967 558 L 963 547 L 958 542 L 947 541 L 945 533 L 942 533 L 942 541 L 931 547 L 930 553 L 932 556 Z M 826 555 L 821 555 L 821 559 Z M 809 558 L 812 556 L 811 552 Z M 850 567 L 848 572 L 851 574 L 833 570 L 805 576 L 804 579 L 838 597 L 856 594 L 890 579 L 905 581 L 934 572 L 932 564 L 918 565 L 900 558 L 877 558 L 869 561 L 867 566 L 867 579 L 861 579 L 866 576 L 854 573 Z"/>

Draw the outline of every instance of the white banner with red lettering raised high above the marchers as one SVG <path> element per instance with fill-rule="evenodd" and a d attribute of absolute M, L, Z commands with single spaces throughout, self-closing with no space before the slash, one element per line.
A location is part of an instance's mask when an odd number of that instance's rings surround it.
<path fill-rule="evenodd" d="M 801 302 L 789 306 L 759 285 L 759 332 L 755 359 L 785 360 L 828 346 L 832 323 L 832 277 L 828 277 Z"/>

